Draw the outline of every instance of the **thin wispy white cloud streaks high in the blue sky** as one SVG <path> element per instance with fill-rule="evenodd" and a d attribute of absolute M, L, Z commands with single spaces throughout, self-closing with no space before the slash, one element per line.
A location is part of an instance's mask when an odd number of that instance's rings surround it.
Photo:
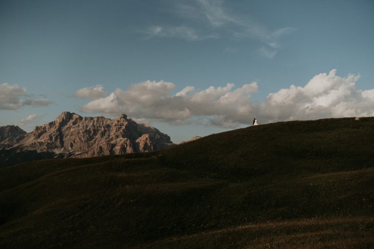
<path fill-rule="evenodd" d="M 257 49 L 262 56 L 272 59 L 281 49 L 281 39 L 296 29 L 282 27 L 269 29 L 251 20 L 247 15 L 234 12 L 225 7 L 223 0 L 195 0 L 174 5 L 170 13 L 180 19 L 181 26 L 150 26 L 147 38 L 173 37 L 189 41 L 208 38 L 251 39 L 262 43 Z"/>

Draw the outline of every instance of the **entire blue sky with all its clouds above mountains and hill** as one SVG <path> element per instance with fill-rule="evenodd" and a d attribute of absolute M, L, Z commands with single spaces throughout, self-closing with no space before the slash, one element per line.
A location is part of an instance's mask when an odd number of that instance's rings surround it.
<path fill-rule="evenodd" d="M 0 126 L 63 111 L 174 143 L 374 116 L 373 0 L 0 0 Z"/>

